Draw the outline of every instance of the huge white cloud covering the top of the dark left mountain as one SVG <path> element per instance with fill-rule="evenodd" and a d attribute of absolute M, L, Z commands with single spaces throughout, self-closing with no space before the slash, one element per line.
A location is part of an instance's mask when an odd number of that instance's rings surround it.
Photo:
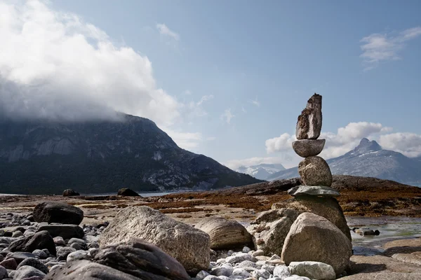
<path fill-rule="evenodd" d="M 0 111 L 86 120 L 114 111 L 172 125 L 182 104 L 156 87 L 152 63 L 72 13 L 41 1 L 0 3 Z"/>

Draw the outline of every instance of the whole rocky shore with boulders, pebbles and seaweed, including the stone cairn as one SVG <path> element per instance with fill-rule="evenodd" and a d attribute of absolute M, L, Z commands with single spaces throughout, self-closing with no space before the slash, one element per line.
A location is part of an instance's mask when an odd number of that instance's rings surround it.
<path fill-rule="evenodd" d="M 300 179 L 164 197 L 1 197 L 0 280 L 421 279 L 421 239 L 358 255 L 352 232 L 381 232 L 345 218 L 419 215 L 421 190 L 332 176 L 320 130 L 314 94 L 293 144 Z"/>

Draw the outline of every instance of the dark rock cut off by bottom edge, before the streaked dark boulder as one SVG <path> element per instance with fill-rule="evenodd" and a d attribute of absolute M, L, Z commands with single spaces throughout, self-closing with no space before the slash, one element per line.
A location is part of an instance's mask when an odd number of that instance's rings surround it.
<path fill-rule="evenodd" d="M 44 280 L 139 280 L 139 278 L 89 260 L 75 260 L 53 269 Z"/>

